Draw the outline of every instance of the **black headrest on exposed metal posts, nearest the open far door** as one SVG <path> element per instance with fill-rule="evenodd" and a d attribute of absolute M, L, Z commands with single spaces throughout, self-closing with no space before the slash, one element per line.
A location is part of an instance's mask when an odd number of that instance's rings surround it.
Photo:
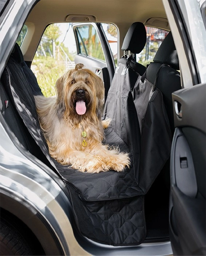
<path fill-rule="evenodd" d="M 122 50 L 131 51 L 132 53 L 140 53 L 147 40 L 147 33 L 143 23 L 135 22 L 131 25 L 125 35 Z"/>

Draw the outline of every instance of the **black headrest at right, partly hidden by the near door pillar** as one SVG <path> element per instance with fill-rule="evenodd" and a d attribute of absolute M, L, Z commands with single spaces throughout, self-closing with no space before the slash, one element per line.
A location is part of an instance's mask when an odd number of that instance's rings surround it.
<path fill-rule="evenodd" d="M 166 38 L 164 38 L 162 44 L 160 45 L 158 51 L 155 54 L 153 61 L 168 64 L 172 68 L 179 70 L 178 54 L 171 32 L 168 33 Z"/>

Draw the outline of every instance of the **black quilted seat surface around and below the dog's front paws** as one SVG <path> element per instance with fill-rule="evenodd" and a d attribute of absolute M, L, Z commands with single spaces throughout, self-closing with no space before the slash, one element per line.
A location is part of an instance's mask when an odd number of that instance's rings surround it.
<path fill-rule="evenodd" d="M 121 151 L 128 152 L 127 145 L 112 128 L 105 130 L 105 136 L 108 144 L 117 143 Z M 82 199 L 87 201 L 118 199 L 142 195 L 143 193 L 135 181 L 133 167 L 131 169 L 125 168 L 124 172 L 109 171 L 98 174 L 81 173 L 68 167 L 64 167 L 64 169 L 61 167 L 58 170 L 67 181 L 81 191 Z"/>

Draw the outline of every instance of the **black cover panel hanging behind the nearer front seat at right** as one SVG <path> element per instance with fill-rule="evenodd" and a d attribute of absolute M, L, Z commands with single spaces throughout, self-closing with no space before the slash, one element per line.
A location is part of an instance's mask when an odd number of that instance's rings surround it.
<path fill-rule="evenodd" d="M 145 79 L 132 93 L 141 129 L 138 184 L 146 192 L 170 157 L 172 135 L 162 92 Z"/>

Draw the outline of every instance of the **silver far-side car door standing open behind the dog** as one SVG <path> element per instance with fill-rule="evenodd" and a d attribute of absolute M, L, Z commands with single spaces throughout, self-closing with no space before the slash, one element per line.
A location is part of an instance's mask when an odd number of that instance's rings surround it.
<path fill-rule="evenodd" d="M 104 82 L 105 98 L 114 75 L 114 58 L 101 23 L 73 25 L 77 45 L 75 64 L 82 63 Z"/>

